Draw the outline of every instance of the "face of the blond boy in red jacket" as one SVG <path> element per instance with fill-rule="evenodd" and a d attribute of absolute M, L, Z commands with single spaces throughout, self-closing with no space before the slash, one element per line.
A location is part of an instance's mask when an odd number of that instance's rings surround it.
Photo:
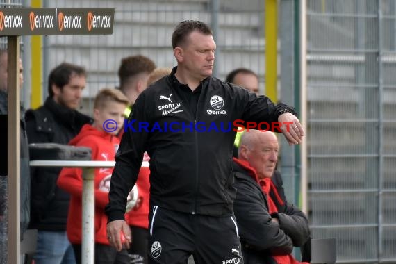
<path fill-rule="evenodd" d="M 100 109 L 94 109 L 94 120 L 95 127 L 100 131 L 104 131 L 103 124 L 108 119 L 115 120 L 117 122 L 117 129 L 113 132 L 109 132 L 115 128 L 115 124 L 106 123 L 106 132 L 112 135 L 117 135 L 124 125 L 124 110 L 125 104 L 117 101 L 108 101 L 106 106 Z"/>

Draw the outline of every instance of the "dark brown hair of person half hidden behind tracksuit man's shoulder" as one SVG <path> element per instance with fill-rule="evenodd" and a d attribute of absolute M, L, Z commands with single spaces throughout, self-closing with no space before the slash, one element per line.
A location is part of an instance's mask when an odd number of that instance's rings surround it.
<path fill-rule="evenodd" d="M 130 77 L 143 72 L 151 74 L 154 69 L 156 69 L 156 64 L 146 56 L 136 55 L 123 58 L 118 69 L 120 88 L 122 89 Z"/>

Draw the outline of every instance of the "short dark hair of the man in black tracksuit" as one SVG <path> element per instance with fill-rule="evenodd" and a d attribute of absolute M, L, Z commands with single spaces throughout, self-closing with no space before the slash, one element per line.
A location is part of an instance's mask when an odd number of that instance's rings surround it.
<path fill-rule="evenodd" d="M 180 22 L 179 25 L 174 28 L 172 34 L 173 49 L 183 44 L 192 31 L 199 31 L 199 33 L 204 35 L 213 35 L 211 28 L 204 22 L 197 20 L 185 20 Z"/>

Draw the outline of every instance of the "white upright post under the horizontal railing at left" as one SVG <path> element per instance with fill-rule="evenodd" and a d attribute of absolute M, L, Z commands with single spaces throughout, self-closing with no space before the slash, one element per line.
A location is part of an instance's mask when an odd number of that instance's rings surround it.
<path fill-rule="evenodd" d="M 81 263 L 94 264 L 94 169 L 83 169 L 83 241 Z"/>

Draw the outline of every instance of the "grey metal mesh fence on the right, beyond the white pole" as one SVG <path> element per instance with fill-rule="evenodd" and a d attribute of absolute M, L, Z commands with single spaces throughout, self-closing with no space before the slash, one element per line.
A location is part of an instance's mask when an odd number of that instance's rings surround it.
<path fill-rule="evenodd" d="M 396 263 L 396 1 L 307 1 L 313 236 L 338 263 Z"/>

